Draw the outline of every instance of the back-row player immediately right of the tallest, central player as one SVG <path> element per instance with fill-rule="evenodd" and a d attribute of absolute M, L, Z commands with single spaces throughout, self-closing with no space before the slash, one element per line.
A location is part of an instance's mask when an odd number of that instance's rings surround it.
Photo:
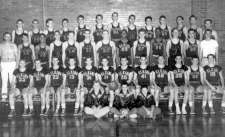
<path fill-rule="evenodd" d="M 127 39 L 128 39 L 128 44 L 133 47 L 134 42 L 137 40 L 138 37 L 138 31 L 137 31 L 137 26 L 135 25 L 135 15 L 131 14 L 128 18 L 128 26 L 126 27 L 127 30 Z"/>

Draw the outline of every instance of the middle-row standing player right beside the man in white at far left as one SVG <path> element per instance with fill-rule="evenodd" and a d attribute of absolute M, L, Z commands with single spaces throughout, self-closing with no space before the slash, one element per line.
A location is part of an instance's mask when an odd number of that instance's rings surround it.
<path fill-rule="evenodd" d="M 33 70 L 33 64 L 35 60 L 34 46 L 29 43 L 28 34 L 23 34 L 23 43 L 18 47 L 18 60 L 24 60 L 26 62 L 26 69 Z"/>

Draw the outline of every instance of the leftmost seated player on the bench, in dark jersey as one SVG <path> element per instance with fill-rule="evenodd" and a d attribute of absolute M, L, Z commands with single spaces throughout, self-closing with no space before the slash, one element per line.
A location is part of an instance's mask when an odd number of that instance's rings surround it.
<path fill-rule="evenodd" d="M 13 84 L 9 94 L 10 113 L 8 117 L 13 117 L 15 114 L 16 97 L 22 94 L 24 103 L 23 116 L 29 116 L 33 112 L 32 92 L 30 91 L 30 72 L 26 69 L 24 60 L 20 60 L 19 68 L 13 72 Z M 28 108 L 30 113 L 28 114 Z"/>

